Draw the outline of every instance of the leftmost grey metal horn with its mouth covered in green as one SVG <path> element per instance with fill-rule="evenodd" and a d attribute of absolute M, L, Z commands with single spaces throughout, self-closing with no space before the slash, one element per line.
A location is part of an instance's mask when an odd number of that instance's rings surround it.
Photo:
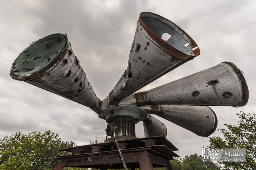
<path fill-rule="evenodd" d="M 100 108 L 66 35 L 52 34 L 31 44 L 15 59 L 10 75 L 94 110 Z"/>

